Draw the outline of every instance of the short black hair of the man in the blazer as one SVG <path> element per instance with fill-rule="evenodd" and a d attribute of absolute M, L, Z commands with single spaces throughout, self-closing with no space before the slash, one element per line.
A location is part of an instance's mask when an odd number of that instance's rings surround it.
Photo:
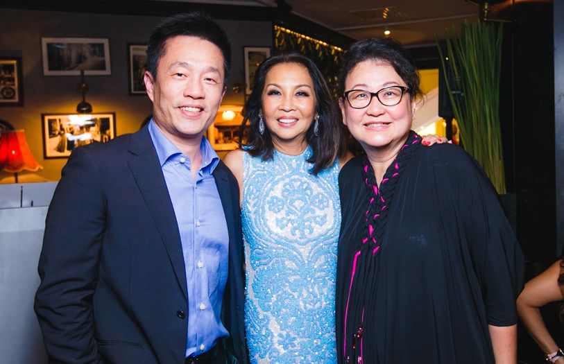
<path fill-rule="evenodd" d="M 167 17 L 151 33 L 147 44 L 147 70 L 151 72 L 153 78 L 157 78 L 157 66 L 166 50 L 166 41 L 177 35 L 198 37 L 215 44 L 223 55 L 223 71 L 225 72 L 223 85 L 227 85 L 227 79 L 231 71 L 231 43 L 229 42 L 229 37 L 214 19 L 198 11 L 184 12 Z M 198 49 L 194 49 L 194 52 L 198 51 Z"/>

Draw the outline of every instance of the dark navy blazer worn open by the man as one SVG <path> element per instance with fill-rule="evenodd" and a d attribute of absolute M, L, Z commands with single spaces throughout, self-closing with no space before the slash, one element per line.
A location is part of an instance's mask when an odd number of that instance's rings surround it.
<path fill-rule="evenodd" d="M 247 363 L 239 187 L 223 162 L 213 176 L 229 232 L 225 345 Z M 38 270 L 35 312 L 50 361 L 184 363 L 182 245 L 146 127 L 74 150 L 46 217 Z"/>

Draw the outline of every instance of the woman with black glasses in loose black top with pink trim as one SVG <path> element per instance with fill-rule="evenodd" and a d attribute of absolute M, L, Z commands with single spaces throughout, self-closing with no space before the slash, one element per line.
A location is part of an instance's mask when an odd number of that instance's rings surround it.
<path fill-rule="evenodd" d="M 339 363 L 515 363 L 524 260 L 488 177 L 457 146 L 421 147 L 397 41 L 353 44 L 340 81 L 366 155 L 339 176 Z"/>

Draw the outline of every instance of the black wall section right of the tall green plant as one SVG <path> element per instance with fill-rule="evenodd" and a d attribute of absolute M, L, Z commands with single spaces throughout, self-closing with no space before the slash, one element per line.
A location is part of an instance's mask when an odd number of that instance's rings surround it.
<path fill-rule="evenodd" d="M 500 116 L 518 238 L 531 261 L 556 258 L 552 3 L 515 4 L 504 32 Z"/>

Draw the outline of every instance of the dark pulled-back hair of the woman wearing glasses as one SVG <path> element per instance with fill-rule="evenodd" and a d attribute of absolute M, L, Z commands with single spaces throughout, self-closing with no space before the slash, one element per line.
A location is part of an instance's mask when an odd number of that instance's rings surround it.
<path fill-rule="evenodd" d="M 366 60 L 390 64 L 406 83 L 411 98 L 422 96 L 419 74 L 409 52 L 400 42 L 391 38 L 368 38 L 350 46 L 339 73 L 339 96 L 343 97 L 345 81 L 354 66 Z"/>

